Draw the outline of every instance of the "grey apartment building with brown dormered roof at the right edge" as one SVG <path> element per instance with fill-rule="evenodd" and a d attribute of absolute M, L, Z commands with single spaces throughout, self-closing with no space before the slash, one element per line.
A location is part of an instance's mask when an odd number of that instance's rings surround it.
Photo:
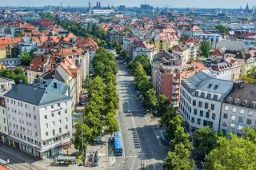
<path fill-rule="evenodd" d="M 233 91 L 222 103 L 220 131 L 229 135 L 234 132 L 242 135 L 242 128 L 256 127 L 256 86 L 246 83 L 234 83 Z"/>

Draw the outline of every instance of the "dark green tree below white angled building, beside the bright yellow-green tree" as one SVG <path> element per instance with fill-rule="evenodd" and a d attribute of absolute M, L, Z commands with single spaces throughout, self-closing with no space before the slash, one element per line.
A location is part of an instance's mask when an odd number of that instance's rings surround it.
<path fill-rule="evenodd" d="M 206 156 L 217 147 L 217 140 L 220 136 L 224 136 L 223 132 L 214 131 L 210 126 L 198 128 L 194 132 L 194 146 L 202 152 L 202 156 Z"/>

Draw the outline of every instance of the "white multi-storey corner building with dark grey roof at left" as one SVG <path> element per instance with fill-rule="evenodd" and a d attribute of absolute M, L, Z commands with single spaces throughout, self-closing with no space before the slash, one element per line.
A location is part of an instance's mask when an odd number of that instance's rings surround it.
<path fill-rule="evenodd" d="M 71 97 L 57 93 L 59 86 L 18 84 L 4 95 L 10 145 L 40 159 L 70 147 Z"/>

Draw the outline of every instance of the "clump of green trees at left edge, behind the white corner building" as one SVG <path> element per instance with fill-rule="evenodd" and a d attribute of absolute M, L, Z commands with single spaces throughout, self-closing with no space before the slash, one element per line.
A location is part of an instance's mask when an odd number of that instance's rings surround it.
<path fill-rule="evenodd" d="M 10 69 L 0 69 L 0 76 L 13 79 L 16 84 L 18 84 L 20 80 L 22 80 L 23 83 L 27 83 L 27 77 L 22 69 L 14 69 L 14 71 Z"/>

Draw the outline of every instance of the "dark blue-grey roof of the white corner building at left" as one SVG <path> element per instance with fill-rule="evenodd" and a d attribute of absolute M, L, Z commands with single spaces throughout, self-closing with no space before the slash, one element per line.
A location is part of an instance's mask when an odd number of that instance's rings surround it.
<path fill-rule="evenodd" d="M 26 84 L 15 85 L 4 96 L 14 98 L 18 101 L 25 101 L 33 105 L 48 105 L 58 101 L 71 100 L 71 97 L 63 94 Z"/>

